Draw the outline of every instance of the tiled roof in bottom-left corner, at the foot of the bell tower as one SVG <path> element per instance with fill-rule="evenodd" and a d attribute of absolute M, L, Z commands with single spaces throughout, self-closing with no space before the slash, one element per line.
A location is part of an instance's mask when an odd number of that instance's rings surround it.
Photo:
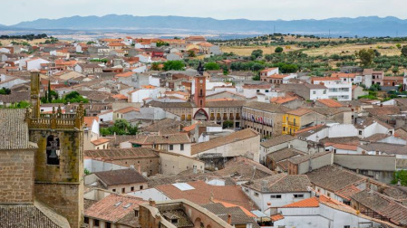
<path fill-rule="evenodd" d="M 71 227 L 66 218 L 38 201 L 34 204 L 0 204 L 0 224 L 5 228 Z"/>

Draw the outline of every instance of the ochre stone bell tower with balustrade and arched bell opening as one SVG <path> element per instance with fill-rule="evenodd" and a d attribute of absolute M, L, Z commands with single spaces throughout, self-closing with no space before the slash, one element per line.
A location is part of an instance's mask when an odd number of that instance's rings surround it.
<path fill-rule="evenodd" d="M 37 143 L 34 158 L 34 196 L 68 219 L 71 227 L 83 218 L 83 106 L 74 114 L 61 107 L 40 113 L 40 75 L 31 73 L 31 102 L 27 109 L 30 141 Z"/>

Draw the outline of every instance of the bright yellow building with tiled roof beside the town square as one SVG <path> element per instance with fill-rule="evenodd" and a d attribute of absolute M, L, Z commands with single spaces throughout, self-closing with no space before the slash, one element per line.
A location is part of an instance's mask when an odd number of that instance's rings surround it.
<path fill-rule="evenodd" d="M 307 127 L 315 121 L 314 114 L 313 110 L 304 108 L 286 112 L 283 116 L 282 134 L 294 136 L 300 128 Z"/>

